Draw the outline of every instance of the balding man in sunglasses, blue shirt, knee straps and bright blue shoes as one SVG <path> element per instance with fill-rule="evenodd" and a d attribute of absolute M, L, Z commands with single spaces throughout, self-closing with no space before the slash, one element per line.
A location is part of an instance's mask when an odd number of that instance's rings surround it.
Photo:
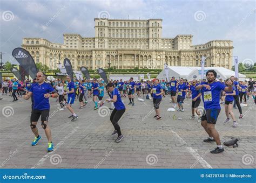
<path fill-rule="evenodd" d="M 45 135 L 48 138 L 48 151 L 53 151 L 53 143 L 51 139 L 51 129 L 48 126 L 48 117 L 50 112 L 49 97 L 58 97 L 55 89 L 51 85 L 44 82 L 45 75 L 42 72 L 36 74 L 37 83 L 33 84 L 28 92 L 24 95 L 24 99 L 28 100 L 33 94 L 33 110 L 30 117 L 30 127 L 35 134 L 35 139 L 32 142 L 32 146 L 37 145 L 41 136 L 39 136 L 38 129 L 36 127 L 39 117 L 41 116 L 42 128 L 45 131 Z"/>

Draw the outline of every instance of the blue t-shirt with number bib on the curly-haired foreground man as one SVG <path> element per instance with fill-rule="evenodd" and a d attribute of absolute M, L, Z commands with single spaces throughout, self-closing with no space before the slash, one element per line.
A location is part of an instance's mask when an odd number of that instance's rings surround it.
<path fill-rule="evenodd" d="M 204 100 L 204 108 L 207 109 L 220 109 L 220 91 L 225 89 L 225 85 L 219 81 L 211 84 L 205 84 L 211 87 L 210 90 L 203 87 L 201 89 Z"/>

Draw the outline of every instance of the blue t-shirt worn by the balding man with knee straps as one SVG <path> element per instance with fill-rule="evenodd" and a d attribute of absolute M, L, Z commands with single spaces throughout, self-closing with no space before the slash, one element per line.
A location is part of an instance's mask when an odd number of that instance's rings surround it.
<path fill-rule="evenodd" d="M 52 86 L 46 82 L 42 83 L 42 85 L 39 85 L 38 83 L 35 83 L 32 85 L 30 90 L 33 93 L 33 109 L 37 110 L 46 110 L 50 109 L 50 103 L 49 98 L 45 98 L 44 94 L 52 93 L 52 91 L 56 91 L 52 88 Z"/>

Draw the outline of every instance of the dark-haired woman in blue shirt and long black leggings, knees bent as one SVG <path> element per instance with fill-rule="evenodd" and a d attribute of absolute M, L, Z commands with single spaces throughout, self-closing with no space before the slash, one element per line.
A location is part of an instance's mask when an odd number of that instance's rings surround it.
<path fill-rule="evenodd" d="M 120 142 L 124 136 L 121 133 L 120 126 L 118 124 L 119 119 L 123 116 L 125 112 L 125 105 L 121 99 L 120 93 L 117 88 L 114 87 L 114 83 L 110 82 L 107 84 L 107 90 L 111 92 L 110 98 L 107 98 L 107 102 L 114 103 L 114 110 L 111 113 L 110 121 L 114 126 L 114 132 L 112 135 L 118 135 L 116 142 Z"/>

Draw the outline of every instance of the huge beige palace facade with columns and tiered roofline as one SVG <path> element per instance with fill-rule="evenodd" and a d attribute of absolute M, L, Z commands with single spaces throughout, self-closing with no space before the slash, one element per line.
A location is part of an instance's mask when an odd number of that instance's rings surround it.
<path fill-rule="evenodd" d="M 232 67 L 233 41 L 212 40 L 192 45 L 191 34 L 162 38 L 162 19 L 120 20 L 95 18 L 95 37 L 63 34 L 64 44 L 43 38 L 23 38 L 22 47 L 35 62 L 56 69 L 69 58 L 73 69 L 150 68 L 200 66 L 202 55 L 207 67 Z"/>

